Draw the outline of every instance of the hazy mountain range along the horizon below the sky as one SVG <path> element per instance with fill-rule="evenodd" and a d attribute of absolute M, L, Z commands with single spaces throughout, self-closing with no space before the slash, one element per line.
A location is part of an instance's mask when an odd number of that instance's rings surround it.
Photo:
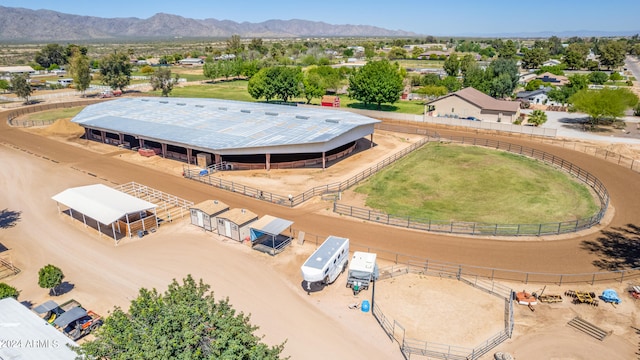
<path fill-rule="evenodd" d="M 0 6 L 0 41 L 82 41 L 109 39 L 170 39 L 241 37 L 293 38 L 418 34 L 369 25 L 332 25 L 307 20 L 268 20 L 261 23 L 189 19 L 158 13 L 148 19 L 101 18 Z"/>

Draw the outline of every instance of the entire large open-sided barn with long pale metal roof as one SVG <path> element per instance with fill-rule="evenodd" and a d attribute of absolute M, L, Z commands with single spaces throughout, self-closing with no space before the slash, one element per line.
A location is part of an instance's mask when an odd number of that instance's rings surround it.
<path fill-rule="evenodd" d="M 349 155 L 378 120 L 339 110 L 218 99 L 122 98 L 87 106 L 73 122 L 87 139 L 206 167 L 303 167 Z M 278 165 L 279 164 L 279 165 Z M 286 164 L 286 165 L 283 165 Z"/>

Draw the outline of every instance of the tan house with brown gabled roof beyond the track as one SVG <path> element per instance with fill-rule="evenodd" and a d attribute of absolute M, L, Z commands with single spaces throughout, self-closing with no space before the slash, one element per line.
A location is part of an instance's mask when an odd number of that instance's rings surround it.
<path fill-rule="evenodd" d="M 513 123 L 520 116 L 520 102 L 492 98 L 472 87 L 427 103 L 429 116 L 474 117 L 482 121 Z"/>

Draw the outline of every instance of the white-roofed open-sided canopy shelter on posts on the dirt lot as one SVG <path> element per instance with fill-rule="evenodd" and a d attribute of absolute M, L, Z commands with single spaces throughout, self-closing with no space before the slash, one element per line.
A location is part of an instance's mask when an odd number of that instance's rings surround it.
<path fill-rule="evenodd" d="M 60 204 L 69 208 L 69 214 L 73 217 L 73 211 L 82 214 L 82 219 L 87 225 L 86 217 L 96 220 L 98 223 L 98 232 L 102 234 L 100 224 L 111 225 L 113 231 L 113 239 L 116 239 L 115 223 L 119 219 L 126 219 L 128 227 L 127 233 L 131 236 L 131 228 L 129 215 L 136 213 L 146 213 L 153 211 L 156 215 L 156 205 L 148 201 L 139 199 L 135 196 L 120 192 L 103 184 L 80 186 L 69 188 L 52 197 L 58 203 L 58 212 Z M 157 216 L 156 227 L 158 226 Z M 118 232 L 120 232 L 118 224 Z"/>

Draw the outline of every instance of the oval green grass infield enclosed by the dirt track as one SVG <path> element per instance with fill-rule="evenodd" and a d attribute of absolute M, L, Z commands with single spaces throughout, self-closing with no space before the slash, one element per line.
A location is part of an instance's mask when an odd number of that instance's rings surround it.
<path fill-rule="evenodd" d="M 480 147 L 429 144 L 355 190 L 373 209 L 412 218 L 537 224 L 592 216 L 583 183 L 523 156 Z"/>

